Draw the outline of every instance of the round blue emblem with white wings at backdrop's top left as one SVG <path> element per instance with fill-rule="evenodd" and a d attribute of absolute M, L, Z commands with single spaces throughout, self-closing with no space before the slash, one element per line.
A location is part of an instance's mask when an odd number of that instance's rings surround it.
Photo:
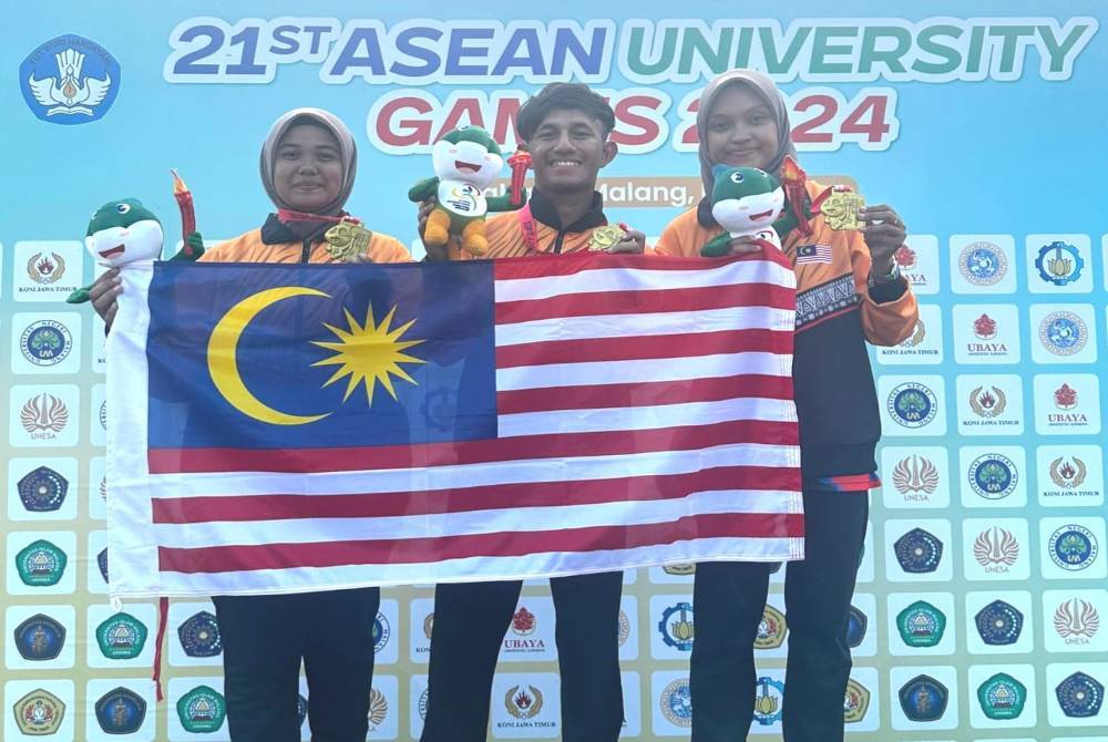
<path fill-rule="evenodd" d="M 32 51 L 19 65 L 19 86 L 31 112 L 53 124 L 102 118 L 120 89 L 120 63 L 94 41 L 66 34 Z"/>

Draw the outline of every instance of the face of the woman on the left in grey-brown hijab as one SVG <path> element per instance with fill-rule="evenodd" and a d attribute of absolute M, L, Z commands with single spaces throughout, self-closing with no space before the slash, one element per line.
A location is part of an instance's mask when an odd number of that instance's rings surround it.
<path fill-rule="evenodd" d="M 274 187 L 290 207 L 316 213 L 338 198 L 342 159 L 338 140 L 311 124 L 290 126 L 274 153 Z"/>

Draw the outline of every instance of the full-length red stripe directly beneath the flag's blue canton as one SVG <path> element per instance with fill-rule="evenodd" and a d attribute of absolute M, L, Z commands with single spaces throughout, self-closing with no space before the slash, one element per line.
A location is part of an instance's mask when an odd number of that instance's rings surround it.
<path fill-rule="evenodd" d="M 147 463 L 151 474 L 350 472 L 691 451 L 731 443 L 798 445 L 797 423 L 735 420 L 712 425 L 643 431 L 521 435 L 490 441 L 342 449 L 151 449 Z"/>

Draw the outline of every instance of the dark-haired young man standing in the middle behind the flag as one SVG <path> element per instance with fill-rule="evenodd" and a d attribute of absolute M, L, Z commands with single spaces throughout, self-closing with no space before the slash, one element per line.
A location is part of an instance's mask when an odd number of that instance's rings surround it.
<path fill-rule="evenodd" d="M 582 84 L 552 83 L 521 109 L 516 126 L 531 153 L 535 185 L 527 207 L 485 226 L 489 253 L 505 258 L 595 249 L 607 226 L 596 176 L 616 155 L 608 138 L 615 114 Z M 430 205 L 420 210 L 421 226 Z M 642 233 L 608 248 L 642 253 Z M 444 259 L 445 249 L 429 250 Z M 464 255 L 462 256 L 465 257 Z M 557 614 L 555 642 L 562 670 L 562 739 L 615 742 L 623 726 L 618 617 L 623 573 L 551 579 Z M 439 585 L 427 720 L 422 742 L 483 742 L 489 694 L 501 642 L 523 583 Z"/>

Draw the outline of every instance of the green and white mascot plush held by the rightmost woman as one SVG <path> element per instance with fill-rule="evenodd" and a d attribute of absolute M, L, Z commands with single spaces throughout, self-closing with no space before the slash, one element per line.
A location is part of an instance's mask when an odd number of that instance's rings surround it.
<path fill-rule="evenodd" d="M 717 167 L 711 189 L 711 215 L 726 231 L 700 248 L 709 258 L 729 255 L 731 240 L 752 237 L 755 244 L 781 249 L 773 223 L 784 213 L 780 182 L 757 167 Z"/>

